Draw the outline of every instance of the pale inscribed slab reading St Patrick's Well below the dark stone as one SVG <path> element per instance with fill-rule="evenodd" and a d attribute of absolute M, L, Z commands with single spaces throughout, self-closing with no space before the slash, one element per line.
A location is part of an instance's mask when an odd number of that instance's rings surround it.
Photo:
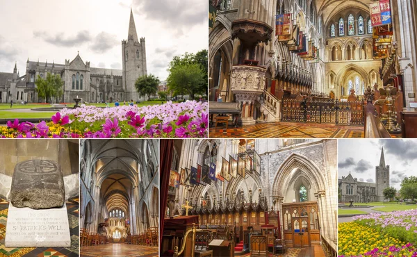
<path fill-rule="evenodd" d="M 44 210 L 9 204 L 6 247 L 69 247 L 67 207 Z"/>

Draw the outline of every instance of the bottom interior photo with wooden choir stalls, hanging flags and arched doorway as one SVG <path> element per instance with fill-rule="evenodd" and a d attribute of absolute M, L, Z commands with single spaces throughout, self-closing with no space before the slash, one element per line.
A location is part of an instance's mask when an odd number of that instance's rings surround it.
<path fill-rule="evenodd" d="M 163 141 L 161 256 L 337 255 L 336 140 Z"/>

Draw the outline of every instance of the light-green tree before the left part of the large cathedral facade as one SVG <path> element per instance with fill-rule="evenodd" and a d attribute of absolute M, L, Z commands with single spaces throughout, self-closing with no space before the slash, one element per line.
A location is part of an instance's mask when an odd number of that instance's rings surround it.
<path fill-rule="evenodd" d="M 47 78 L 41 78 L 38 75 L 38 78 L 35 81 L 35 85 L 35 90 L 38 93 L 38 97 L 45 99 L 45 102 L 47 103 L 51 97 L 59 99 L 63 95 L 63 81 L 61 80 L 59 74 L 51 74 L 48 72 Z"/>

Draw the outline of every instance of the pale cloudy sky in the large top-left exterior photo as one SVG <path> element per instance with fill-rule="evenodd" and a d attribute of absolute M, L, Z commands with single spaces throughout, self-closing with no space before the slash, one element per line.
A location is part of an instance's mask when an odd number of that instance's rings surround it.
<path fill-rule="evenodd" d="M 0 72 L 26 60 L 65 63 L 80 52 L 91 67 L 122 69 L 130 8 L 145 37 L 147 70 L 161 80 L 173 56 L 208 49 L 206 0 L 0 0 Z"/>

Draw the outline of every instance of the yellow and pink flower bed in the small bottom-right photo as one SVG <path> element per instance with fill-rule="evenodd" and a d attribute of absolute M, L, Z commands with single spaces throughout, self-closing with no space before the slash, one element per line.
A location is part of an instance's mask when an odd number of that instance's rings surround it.
<path fill-rule="evenodd" d="M 339 256 L 417 257 L 417 210 L 372 213 L 338 224 Z"/>

